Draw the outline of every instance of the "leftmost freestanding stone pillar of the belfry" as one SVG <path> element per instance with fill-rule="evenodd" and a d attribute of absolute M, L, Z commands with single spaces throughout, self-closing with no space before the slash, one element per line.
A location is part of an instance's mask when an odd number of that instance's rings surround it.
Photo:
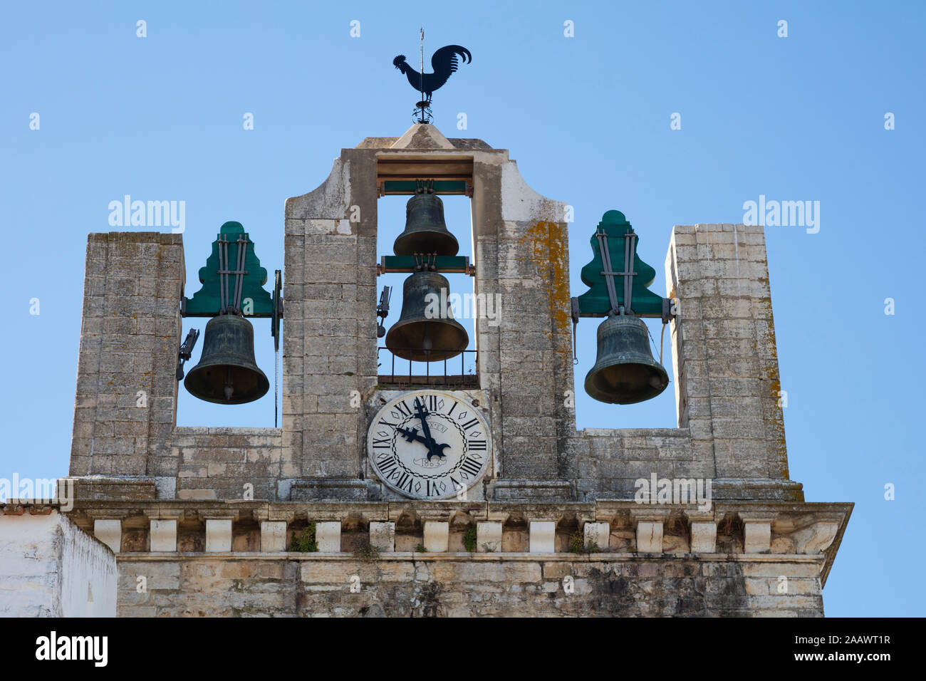
<path fill-rule="evenodd" d="M 88 237 L 71 475 L 176 476 L 184 276 L 180 234 Z"/>

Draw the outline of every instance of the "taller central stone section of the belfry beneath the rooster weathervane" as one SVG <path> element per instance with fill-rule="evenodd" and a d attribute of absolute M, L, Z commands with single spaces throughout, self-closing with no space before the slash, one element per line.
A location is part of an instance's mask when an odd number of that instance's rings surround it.
<path fill-rule="evenodd" d="M 284 281 L 287 290 L 309 292 L 301 302 L 287 302 L 283 319 L 283 431 L 301 445 L 306 475 L 294 484 L 315 490 L 340 484 L 381 498 L 358 447 L 369 413 L 352 409 L 349 400 L 357 391 L 372 409 L 383 383 L 376 329 L 366 322 L 376 308 L 377 264 L 398 271 L 402 256 L 410 259 L 415 250 L 400 247 L 394 258 L 378 257 L 377 201 L 387 194 L 432 200 L 414 194 L 422 180 L 437 192 L 471 198 L 473 262 L 455 262 L 445 254 L 456 247 L 442 242 L 435 250 L 448 270 L 440 271 L 472 274 L 472 294 L 504 306 L 497 325 L 475 320 L 479 389 L 469 392 L 491 423 L 494 452 L 485 486 L 468 498 L 574 498 L 558 455 L 575 430 L 574 413 L 562 399 L 572 386 L 565 204 L 534 193 L 506 150 L 480 140 L 451 143 L 420 123 L 398 139 L 368 138 L 344 149 L 325 183 L 286 202 Z M 466 284 L 455 277 L 453 285 Z M 335 307 L 338 329 L 332 329 Z M 296 414 L 295 402 L 311 408 Z M 319 432 L 318 423 L 330 430 Z M 322 470 L 325 475 L 314 474 Z"/>

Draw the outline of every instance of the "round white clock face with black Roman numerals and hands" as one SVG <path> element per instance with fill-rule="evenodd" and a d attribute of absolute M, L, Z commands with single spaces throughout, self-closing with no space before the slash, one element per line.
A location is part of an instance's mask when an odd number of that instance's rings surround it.
<path fill-rule="evenodd" d="M 468 401 L 417 390 L 379 410 L 367 451 L 373 470 L 395 492 L 440 499 L 465 498 L 485 473 L 492 446 L 488 423 Z"/>

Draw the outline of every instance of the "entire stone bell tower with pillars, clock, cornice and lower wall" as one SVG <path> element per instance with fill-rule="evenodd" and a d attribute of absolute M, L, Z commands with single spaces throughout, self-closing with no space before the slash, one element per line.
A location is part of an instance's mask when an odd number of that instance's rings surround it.
<path fill-rule="evenodd" d="M 444 271 L 503 305 L 475 377 L 440 385 L 377 359 L 378 273 L 412 271 L 377 204 L 420 181 L 469 196 L 472 261 Z M 342 149 L 286 201 L 281 428 L 176 425 L 181 236 L 91 234 L 69 516 L 117 553 L 119 613 L 822 615 L 852 505 L 789 478 L 762 228 L 671 232 L 678 427 L 577 431 L 564 216 L 507 150 L 429 124 Z M 441 438 L 476 454 L 464 493 L 379 465 L 389 440 L 437 468 Z M 641 503 L 641 479 L 712 495 Z"/>

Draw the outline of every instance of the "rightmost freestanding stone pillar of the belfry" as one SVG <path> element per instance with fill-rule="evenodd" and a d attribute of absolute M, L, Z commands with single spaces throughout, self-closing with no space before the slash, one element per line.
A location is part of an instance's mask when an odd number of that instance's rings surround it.
<path fill-rule="evenodd" d="M 803 501 L 788 480 L 763 228 L 676 226 L 666 279 L 678 300 L 671 348 L 679 426 L 691 430 L 714 496 Z"/>

